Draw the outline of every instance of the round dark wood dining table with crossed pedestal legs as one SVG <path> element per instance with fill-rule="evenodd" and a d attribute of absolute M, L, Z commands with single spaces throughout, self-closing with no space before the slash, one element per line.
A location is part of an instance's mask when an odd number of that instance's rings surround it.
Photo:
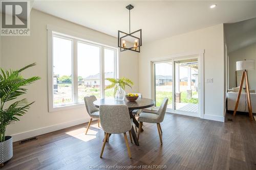
<path fill-rule="evenodd" d="M 107 99 L 99 99 L 97 101 L 94 101 L 93 104 L 97 108 L 99 108 L 100 105 L 126 105 L 129 109 L 130 117 L 133 119 L 133 123 L 135 124 L 136 127 L 139 128 L 139 123 L 133 114 L 133 110 L 145 109 L 148 107 L 155 106 L 155 101 L 147 98 L 138 98 L 135 102 L 130 102 L 130 101 L 127 101 L 126 99 L 124 99 L 123 101 L 116 101 L 114 98 L 107 98 Z M 136 145 L 139 145 L 139 141 L 137 139 L 133 126 L 132 126 L 131 132 L 132 132 L 134 143 Z"/>

